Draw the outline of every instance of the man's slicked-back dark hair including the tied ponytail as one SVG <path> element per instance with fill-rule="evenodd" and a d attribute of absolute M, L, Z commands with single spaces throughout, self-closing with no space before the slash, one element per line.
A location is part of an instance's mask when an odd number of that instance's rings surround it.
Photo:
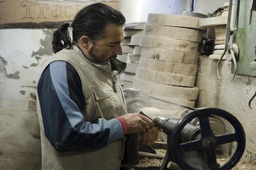
<path fill-rule="evenodd" d="M 123 14 L 103 3 L 93 3 L 81 9 L 75 16 L 71 26 L 73 28 L 73 41 L 83 36 L 89 36 L 93 41 L 102 37 L 107 25 L 123 26 L 125 17 Z M 70 49 L 71 40 L 68 34 L 69 23 L 62 24 L 53 33 L 52 50 L 54 53 L 63 48 Z"/>

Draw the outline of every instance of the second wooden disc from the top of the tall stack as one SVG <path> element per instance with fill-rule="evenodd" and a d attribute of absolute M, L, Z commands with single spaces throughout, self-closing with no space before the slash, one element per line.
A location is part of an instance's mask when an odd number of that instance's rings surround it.
<path fill-rule="evenodd" d="M 143 32 L 143 35 L 169 37 L 197 42 L 201 42 L 202 34 L 202 30 L 149 24 L 145 25 Z"/>

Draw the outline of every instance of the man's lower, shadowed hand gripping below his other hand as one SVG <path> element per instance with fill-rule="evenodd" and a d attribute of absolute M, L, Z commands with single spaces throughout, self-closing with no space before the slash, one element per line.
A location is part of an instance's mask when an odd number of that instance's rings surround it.
<path fill-rule="evenodd" d="M 153 145 L 154 142 L 158 139 L 158 128 L 152 127 L 147 129 L 145 133 L 138 133 L 139 143 L 144 145 Z"/>

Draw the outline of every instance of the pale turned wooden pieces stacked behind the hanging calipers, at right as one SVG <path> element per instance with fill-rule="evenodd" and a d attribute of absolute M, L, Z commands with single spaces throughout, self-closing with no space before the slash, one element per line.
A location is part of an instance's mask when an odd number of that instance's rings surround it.
<path fill-rule="evenodd" d="M 219 17 L 204 18 L 199 20 L 199 24 L 201 27 L 212 27 L 214 29 L 215 47 L 213 54 L 209 55 L 209 59 L 212 60 L 219 60 L 224 51 L 226 40 L 228 5 L 229 2 L 225 2 L 224 5 L 221 6 L 223 10 L 221 11 L 221 15 Z M 225 55 L 222 58 L 222 60 L 226 60 Z"/>

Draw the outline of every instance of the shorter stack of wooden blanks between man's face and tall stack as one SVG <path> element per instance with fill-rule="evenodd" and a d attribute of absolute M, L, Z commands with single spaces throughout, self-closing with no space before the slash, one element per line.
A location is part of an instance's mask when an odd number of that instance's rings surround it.
<path fill-rule="evenodd" d="M 140 57 L 133 54 L 133 51 L 136 46 L 139 46 L 140 36 L 143 33 L 145 24 L 145 22 L 142 22 L 125 25 L 124 41 L 122 42 L 123 55 L 117 56 L 117 59 L 127 63 L 125 71 L 119 76 L 119 81 L 123 84 L 124 89 L 132 87 Z M 125 43 L 126 39 L 128 43 Z"/>

